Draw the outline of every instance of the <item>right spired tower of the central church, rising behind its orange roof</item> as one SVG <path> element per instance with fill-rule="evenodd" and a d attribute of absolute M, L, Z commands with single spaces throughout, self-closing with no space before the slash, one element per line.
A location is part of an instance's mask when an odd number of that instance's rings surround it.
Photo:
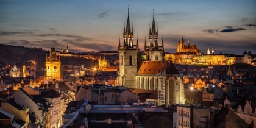
<path fill-rule="evenodd" d="M 146 46 L 146 60 L 163 60 L 163 41 L 162 46 L 158 46 L 158 28 L 155 27 L 155 9 L 153 9 L 152 27 L 149 28 L 149 46 Z"/>

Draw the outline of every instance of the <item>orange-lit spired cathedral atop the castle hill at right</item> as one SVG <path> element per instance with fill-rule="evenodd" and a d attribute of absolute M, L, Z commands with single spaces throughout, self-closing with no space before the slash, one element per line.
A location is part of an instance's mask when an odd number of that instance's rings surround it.
<path fill-rule="evenodd" d="M 190 40 L 188 40 L 188 45 L 185 44 L 185 39 L 178 41 L 177 52 L 195 52 L 197 55 L 201 55 L 201 50 L 197 49 L 196 45 L 190 45 Z"/>

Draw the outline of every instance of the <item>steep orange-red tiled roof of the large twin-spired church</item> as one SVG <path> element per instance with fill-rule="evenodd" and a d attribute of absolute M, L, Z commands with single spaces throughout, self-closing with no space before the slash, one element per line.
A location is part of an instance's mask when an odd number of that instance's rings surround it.
<path fill-rule="evenodd" d="M 171 61 L 161 60 L 140 62 L 137 75 L 154 75 L 158 71 L 166 71 L 166 74 L 179 74 L 178 70 Z"/>

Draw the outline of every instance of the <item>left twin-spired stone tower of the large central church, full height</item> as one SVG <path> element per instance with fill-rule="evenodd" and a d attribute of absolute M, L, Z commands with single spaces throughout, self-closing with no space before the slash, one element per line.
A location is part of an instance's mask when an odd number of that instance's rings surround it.
<path fill-rule="evenodd" d="M 138 41 L 137 41 L 138 45 Z M 123 46 L 118 44 L 119 52 L 119 71 L 118 85 L 123 85 L 128 88 L 135 88 L 135 74 L 138 71 L 138 62 L 140 61 L 139 48 L 133 45 L 133 27 L 130 27 L 129 8 L 126 27 L 123 32 Z"/>

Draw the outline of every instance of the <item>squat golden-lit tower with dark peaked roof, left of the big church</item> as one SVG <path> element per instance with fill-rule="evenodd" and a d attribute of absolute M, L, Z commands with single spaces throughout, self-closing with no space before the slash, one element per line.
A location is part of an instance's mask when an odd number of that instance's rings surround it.
<path fill-rule="evenodd" d="M 61 80 L 60 76 L 60 57 L 57 57 L 55 48 L 52 47 L 49 57 L 46 54 L 46 79 L 48 80 Z"/>

